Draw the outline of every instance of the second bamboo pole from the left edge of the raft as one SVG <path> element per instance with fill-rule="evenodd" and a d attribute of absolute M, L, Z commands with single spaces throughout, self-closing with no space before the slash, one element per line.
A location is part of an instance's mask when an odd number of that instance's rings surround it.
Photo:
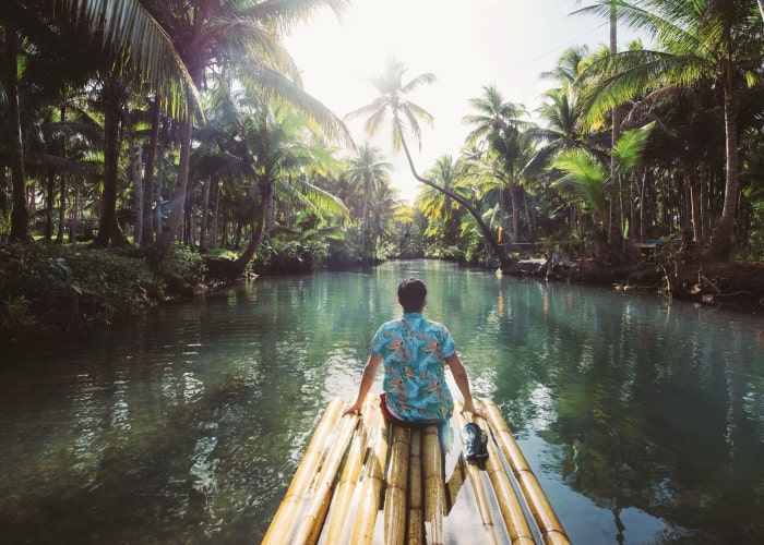
<path fill-rule="evenodd" d="M 358 415 L 356 414 L 346 414 L 342 417 L 339 429 L 332 440 L 332 446 L 321 468 L 321 473 L 319 473 L 319 479 L 313 488 L 313 495 L 310 498 L 308 510 L 302 516 L 302 523 L 298 526 L 291 543 L 312 544 L 319 541 L 324 518 L 329 510 L 329 504 L 332 501 L 332 491 L 339 471 L 339 464 L 345 457 L 345 451 L 347 450 L 357 424 Z"/>

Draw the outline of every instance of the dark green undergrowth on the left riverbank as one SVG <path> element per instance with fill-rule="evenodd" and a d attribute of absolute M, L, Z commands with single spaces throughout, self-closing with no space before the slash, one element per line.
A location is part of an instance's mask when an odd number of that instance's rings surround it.
<path fill-rule="evenodd" d="M 1 244 L 0 343 L 98 330 L 203 276 L 201 257 L 182 249 L 159 261 L 135 250 Z"/>

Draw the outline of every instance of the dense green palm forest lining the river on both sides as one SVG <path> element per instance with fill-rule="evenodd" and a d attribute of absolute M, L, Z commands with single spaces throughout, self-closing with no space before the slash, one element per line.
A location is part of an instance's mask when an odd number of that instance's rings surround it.
<path fill-rule="evenodd" d="M 611 44 L 564 51 L 535 107 L 476 89 L 463 150 L 434 165 L 416 166 L 409 145 L 432 122 L 414 95 L 435 76 L 390 59 L 379 98 L 348 119 L 390 131 L 422 183 L 415 203 L 390 158 L 303 89 L 283 46 L 346 4 L 8 0 L 0 323 L 40 320 L 33 284 L 46 278 L 75 316 L 110 322 L 106 292 L 122 280 L 85 282 L 80 259 L 133 259 L 124 282 L 151 304 L 212 278 L 392 257 L 506 266 L 557 249 L 613 264 L 635 243 L 681 239 L 716 259 L 763 258 L 761 2 L 582 5 L 610 23 Z M 619 50 L 619 25 L 644 43 Z M 25 266 L 35 282 L 11 281 Z M 85 292 L 103 292 L 102 311 L 79 312 Z"/>

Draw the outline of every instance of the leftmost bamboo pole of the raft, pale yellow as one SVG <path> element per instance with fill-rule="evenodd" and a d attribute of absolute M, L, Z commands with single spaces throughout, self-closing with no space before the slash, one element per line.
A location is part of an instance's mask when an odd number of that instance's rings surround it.
<path fill-rule="evenodd" d="M 297 468 L 297 472 L 295 472 L 289 488 L 271 521 L 271 525 L 263 538 L 263 544 L 285 543 L 295 532 L 295 526 L 298 522 L 296 518 L 297 511 L 306 492 L 315 477 L 317 469 L 321 463 L 324 449 L 332 435 L 331 432 L 336 425 L 343 405 L 344 403 L 341 399 L 333 399 L 326 405 L 326 410 L 315 427 L 313 437 L 308 445 L 302 461 Z"/>

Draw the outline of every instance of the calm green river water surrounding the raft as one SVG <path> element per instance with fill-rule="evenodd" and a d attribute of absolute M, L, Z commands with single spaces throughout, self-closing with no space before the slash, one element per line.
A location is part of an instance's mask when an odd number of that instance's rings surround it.
<path fill-rule="evenodd" d="M 761 315 L 434 262 L 259 278 L 3 354 L 3 542 L 259 543 L 411 275 L 574 543 L 764 543 Z"/>

